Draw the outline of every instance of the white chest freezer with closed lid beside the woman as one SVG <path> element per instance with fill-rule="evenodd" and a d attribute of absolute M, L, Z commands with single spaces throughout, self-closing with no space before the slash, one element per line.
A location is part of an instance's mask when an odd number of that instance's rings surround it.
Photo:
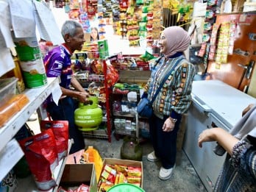
<path fill-rule="evenodd" d="M 219 80 L 194 81 L 192 96 L 183 150 L 207 191 L 212 191 L 226 154 L 217 156 L 213 152 L 216 142 L 203 143 L 199 148 L 199 134 L 213 127 L 229 131 L 241 118 L 243 109 L 256 103 L 256 99 Z"/>

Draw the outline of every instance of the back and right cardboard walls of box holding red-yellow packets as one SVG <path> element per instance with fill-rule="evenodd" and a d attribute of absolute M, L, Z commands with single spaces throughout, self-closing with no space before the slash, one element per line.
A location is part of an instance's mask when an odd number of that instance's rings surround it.
<path fill-rule="evenodd" d="M 103 168 L 104 165 L 121 165 L 121 166 L 135 166 L 141 168 L 141 188 L 143 188 L 143 163 L 142 161 L 135 160 L 121 160 L 115 158 L 104 158 L 103 160 Z"/>

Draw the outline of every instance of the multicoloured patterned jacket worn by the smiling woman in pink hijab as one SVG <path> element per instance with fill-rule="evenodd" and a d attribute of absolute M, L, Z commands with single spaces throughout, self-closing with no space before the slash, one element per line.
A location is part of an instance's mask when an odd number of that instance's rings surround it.
<path fill-rule="evenodd" d="M 171 115 L 171 113 L 185 113 L 191 104 L 191 90 L 195 68 L 188 60 L 185 60 L 183 55 L 174 58 L 161 57 L 156 60 L 152 67 L 151 77 L 144 90 L 145 93 L 148 93 L 148 99 L 152 99 L 152 96 L 154 96 L 155 91 L 168 71 L 170 71 L 172 65 L 181 58 L 183 60 L 179 61 L 176 68 L 171 72 L 152 105 L 154 114 L 158 117 L 160 115 L 169 115 L 174 118 L 175 115 Z"/>

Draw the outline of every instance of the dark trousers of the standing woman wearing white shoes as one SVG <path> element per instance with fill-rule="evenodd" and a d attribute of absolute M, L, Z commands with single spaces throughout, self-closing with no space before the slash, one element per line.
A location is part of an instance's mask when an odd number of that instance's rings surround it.
<path fill-rule="evenodd" d="M 149 132 L 154 153 L 160 158 L 163 168 L 172 168 L 176 161 L 177 153 L 177 132 L 182 115 L 177 118 L 174 130 L 171 132 L 163 132 L 163 124 L 168 116 L 163 119 L 153 115 L 149 119 Z"/>

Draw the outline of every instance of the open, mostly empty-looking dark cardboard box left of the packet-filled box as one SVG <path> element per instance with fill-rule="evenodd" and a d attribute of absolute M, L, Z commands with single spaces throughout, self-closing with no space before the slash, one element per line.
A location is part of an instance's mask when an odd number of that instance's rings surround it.
<path fill-rule="evenodd" d="M 59 186 L 67 189 L 73 187 L 78 188 L 82 184 L 89 185 L 90 192 L 97 191 L 97 180 L 94 164 L 66 164 Z"/>

